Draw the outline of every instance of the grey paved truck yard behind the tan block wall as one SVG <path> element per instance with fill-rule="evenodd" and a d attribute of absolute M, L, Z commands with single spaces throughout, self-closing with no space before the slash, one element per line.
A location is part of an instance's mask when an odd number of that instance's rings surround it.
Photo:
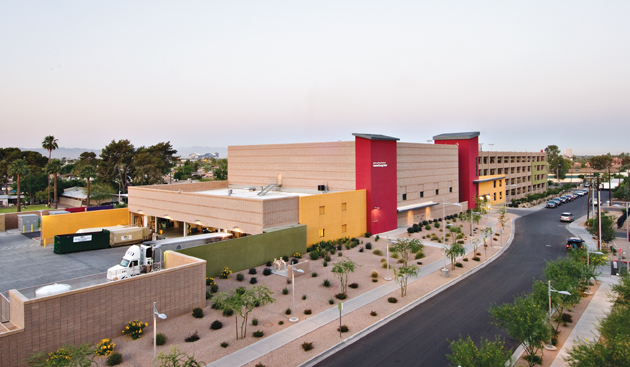
<path fill-rule="evenodd" d="M 0 232 L 0 292 L 104 273 L 128 247 L 57 255 L 15 230 Z"/>

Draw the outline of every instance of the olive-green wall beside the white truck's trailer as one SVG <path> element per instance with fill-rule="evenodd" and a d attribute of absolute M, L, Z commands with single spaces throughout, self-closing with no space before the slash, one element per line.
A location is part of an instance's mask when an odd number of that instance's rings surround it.
<path fill-rule="evenodd" d="M 226 266 L 237 272 L 260 266 L 283 255 L 305 253 L 306 226 L 297 224 L 178 252 L 206 260 L 206 276 L 215 277 Z"/>

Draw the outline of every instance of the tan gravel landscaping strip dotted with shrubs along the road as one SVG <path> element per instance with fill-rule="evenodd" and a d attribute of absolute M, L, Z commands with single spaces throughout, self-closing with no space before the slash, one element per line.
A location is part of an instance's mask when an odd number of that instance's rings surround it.
<path fill-rule="evenodd" d="M 514 216 L 509 217 L 512 219 Z M 481 233 L 481 229 L 485 228 L 487 220 L 488 218 L 484 216 L 481 223 L 479 225 L 475 225 L 475 227 L 478 228 L 475 230 L 476 235 Z M 455 225 L 461 224 L 461 221 L 457 221 L 455 223 Z M 470 231 L 469 228 L 469 223 L 465 223 L 463 225 L 465 234 L 468 234 Z M 503 242 L 507 241 L 510 231 L 510 223 L 508 223 L 505 229 L 506 234 L 503 235 Z M 427 236 L 430 237 L 433 233 L 439 236 L 440 239 L 442 238 L 443 232 L 433 227 L 431 231 L 423 230 L 422 232 L 412 234 L 411 236 L 407 233 L 403 233 L 398 236 L 404 238 L 418 238 L 425 244 L 425 257 L 419 260 L 412 260 L 411 263 L 420 261 L 423 264 L 429 264 L 435 261 L 442 261 L 443 254 L 440 248 L 441 243 L 431 241 L 426 238 Z M 425 239 L 422 239 L 423 236 L 425 236 Z M 386 239 L 381 237 L 380 240 L 376 241 L 374 237 L 369 239 L 360 237 L 359 240 L 361 241 L 359 246 L 349 250 L 345 248 L 341 250 L 342 256 L 347 256 L 361 265 L 357 271 L 351 273 L 349 276 L 349 283 L 357 283 L 359 287 L 357 289 L 348 288 L 348 299 L 387 283 L 387 281 L 383 279 L 387 272 L 382 265 L 382 259 L 385 259 L 385 257 L 374 254 L 375 250 L 380 250 L 383 254 L 386 253 Z M 365 245 L 368 242 L 371 242 L 372 244 L 371 250 L 365 249 Z M 466 242 L 468 242 L 468 240 L 466 240 Z M 399 310 L 439 286 L 453 281 L 471 269 L 479 266 L 482 262 L 486 261 L 502 248 L 504 243 L 500 242 L 501 236 L 498 233 L 494 234 L 491 239 L 488 240 L 488 246 L 486 248 L 484 248 L 483 242 L 481 242 L 481 245 L 477 250 L 477 252 L 481 254 L 479 256 L 481 258 L 481 262 L 473 261 L 472 257 L 474 255 L 469 254 L 467 256 L 467 258 L 469 258 L 468 261 L 463 261 L 462 259 L 459 260 L 463 264 L 463 268 L 456 267 L 451 270 L 450 278 L 441 277 L 440 271 L 434 272 L 413 283 L 410 283 L 408 295 L 404 298 L 400 296 L 400 290 L 394 291 L 350 314 L 344 314 L 343 324 L 347 325 L 350 330 L 349 332 L 343 334 L 343 339 L 356 334 L 358 331 Z M 362 252 L 360 251 L 361 248 L 363 248 Z M 339 251 L 331 257 L 332 261 L 326 267 L 323 265 L 324 259 L 322 258 L 315 261 L 309 261 L 309 272 L 295 277 L 295 312 L 296 316 L 300 319 L 300 322 L 307 320 L 324 310 L 330 309 L 331 307 L 336 307 L 331 306 L 329 300 L 334 300 L 336 305 L 337 300 L 334 298 L 334 295 L 340 292 L 339 280 L 331 273 L 332 264 L 340 258 Z M 305 259 L 308 259 L 308 254 L 304 254 L 304 259 L 300 261 L 304 261 Z M 400 266 L 400 264 L 397 264 L 396 259 L 391 259 L 390 266 Z M 167 337 L 167 342 L 164 346 L 158 346 L 157 352 L 168 353 L 173 346 L 177 346 L 179 350 L 184 353 L 189 355 L 194 354 L 195 359 L 198 361 L 210 363 L 247 345 L 257 342 L 259 339 L 252 336 L 254 331 L 263 331 L 264 337 L 268 337 L 269 335 L 291 327 L 293 325 L 289 322 L 291 315 L 287 315 L 286 310 L 291 307 L 291 291 L 293 284 L 288 284 L 287 278 L 283 276 L 275 274 L 263 276 L 262 272 L 265 267 L 265 265 L 257 267 L 255 275 L 249 275 L 247 270 L 241 271 L 240 273 L 244 275 L 244 280 L 242 282 L 236 280 L 236 274 L 232 274 L 229 279 L 215 278 L 219 286 L 219 291 L 228 291 L 240 286 L 249 287 L 250 279 L 252 277 L 256 277 L 258 280 L 257 285 L 264 284 L 274 292 L 273 297 L 276 299 L 276 303 L 256 308 L 249 315 L 249 320 L 247 322 L 247 334 L 244 339 L 236 340 L 236 328 L 240 327 L 242 320 L 239 318 L 237 325 L 236 316 L 223 316 L 221 311 L 213 310 L 210 307 L 212 301 L 209 300 L 206 302 L 206 307 L 204 308 L 205 317 L 202 319 L 193 318 L 191 310 L 191 314 L 168 318 L 167 320 L 158 320 L 157 331 Z M 451 267 L 450 264 L 448 267 Z M 372 281 L 370 276 L 372 271 L 377 271 L 379 274 L 377 282 Z M 316 274 L 316 276 L 314 274 Z M 330 281 L 330 287 L 322 285 L 325 279 Z M 289 290 L 287 295 L 282 294 L 282 290 L 285 287 Z M 208 287 L 208 289 L 210 289 L 210 287 Z M 304 296 L 306 299 L 303 299 Z M 392 304 L 387 302 L 388 297 L 396 297 L 398 299 L 398 303 Z M 159 304 L 157 306 L 159 310 Z M 306 315 L 304 313 L 306 309 L 310 309 L 312 313 L 310 315 Z M 370 312 L 372 311 L 376 312 L 376 316 L 370 315 Z M 254 318 L 258 320 L 257 326 L 252 326 L 252 320 Z M 215 320 L 219 320 L 223 323 L 222 329 L 210 330 L 210 324 Z M 141 321 L 149 323 L 149 326 L 144 329 L 144 337 L 138 340 L 131 340 L 129 337 L 120 336 L 113 340 L 113 342 L 116 343 L 115 350 L 123 354 L 124 362 L 121 366 L 152 365 L 152 320 Z M 282 323 L 282 325 L 280 325 L 280 323 Z M 302 338 L 296 339 L 276 350 L 270 351 L 270 353 L 266 354 L 259 360 L 246 364 L 246 366 L 255 366 L 259 362 L 266 366 L 295 366 L 303 363 L 343 340 L 339 338 L 337 327 L 338 321 L 331 322 Z M 200 339 L 194 343 L 185 343 L 184 338 L 195 331 L 198 332 Z M 309 352 L 302 351 L 300 345 L 304 341 L 314 342 L 314 349 Z M 222 342 L 227 342 L 229 346 L 226 348 L 221 347 L 220 344 Z M 97 360 L 99 362 L 99 366 L 105 365 L 104 357 L 98 357 Z"/>

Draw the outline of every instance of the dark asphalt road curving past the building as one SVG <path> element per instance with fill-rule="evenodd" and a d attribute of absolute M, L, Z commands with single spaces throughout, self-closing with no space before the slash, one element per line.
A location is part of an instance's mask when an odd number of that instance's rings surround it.
<path fill-rule="evenodd" d="M 520 217 L 512 245 L 495 261 L 317 366 L 448 366 L 448 340 L 460 335 L 475 342 L 501 335 L 507 348 L 515 350 L 518 342 L 491 324 L 488 309 L 531 292 L 546 261 L 566 256 L 564 244 L 571 233 L 560 222 L 560 213 L 570 211 L 579 218 L 586 214 L 585 203 L 581 197 Z"/>

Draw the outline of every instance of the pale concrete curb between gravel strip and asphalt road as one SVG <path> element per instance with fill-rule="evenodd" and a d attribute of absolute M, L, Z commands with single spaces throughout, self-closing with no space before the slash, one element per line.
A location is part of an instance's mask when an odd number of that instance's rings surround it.
<path fill-rule="evenodd" d="M 431 297 L 435 296 L 436 294 L 442 292 L 443 290 L 459 283 L 460 281 L 468 278 L 470 275 L 475 274 L 477 271 L 479 271 L 480 269 L 485 268 L 486 266 L 488 266 L 488 264 L 490 264 L 491 262 L 493 262 L 494 260 L 496 260 L 496 258 L 498 258 L 500 255 L 503 254 L 503 252 L 505 252 L 510 245 L 512 244 L 512 240 L 514 239 L 514 221 L 515 219 L 512 219 L 511 221 L 511 231 L 510 231 L 510 237 L 508 238 L 505 246 L 499 250 L 496 254 L 490 256 L 488 258 L 488 260 L 484 261 L 483 263 L 479 264 L 479 266 L 475 267 L 474 269 L 471 269 L 469 271 L 467 271 L 466 273 L 462 274 L 461 276 L 453 279 L 452 281 L 443 284 L 441 286 L 439 286 L 438 288 L 432 290 L 431 292 L 425 294 L 424 296 L 418 298 L 417 300 L 411 302 L 410 304 L 392 312 L 391 314 L 385 316 L 384 318 L 382 318 L 381 320 L 375 322 L 374 324 L 366 327 L 365 329 L 359 331 L 358 333 L 348 337 L 347 339 L 333 345 L 332 347 L 326 349 L 325 351 L 319 353 L 318 355 L 314 356 L 313 358 L 307 360 L 306 362 L 298 365 L 298 367 L 312 367 L 316 364 L 318 364 L 319 362 L 323 361 L 324 359 L 328 358 L 329 356 L 339 352 L 340 350 L 344 349 L 345 347 L 355 343 L 356 341 L 360 340 L 361 338 L 367 336 L 368 334 L 370 334 L 371 332 L 379 329 L 380 327 L 386 325 L 387 323 L 389 323 L 390 321 L 394 320 L 395 318 L 402 316 L 405 312 L 409 311 L 410 309 L 426 302 L 427 300 L 429 300 Z"/>

